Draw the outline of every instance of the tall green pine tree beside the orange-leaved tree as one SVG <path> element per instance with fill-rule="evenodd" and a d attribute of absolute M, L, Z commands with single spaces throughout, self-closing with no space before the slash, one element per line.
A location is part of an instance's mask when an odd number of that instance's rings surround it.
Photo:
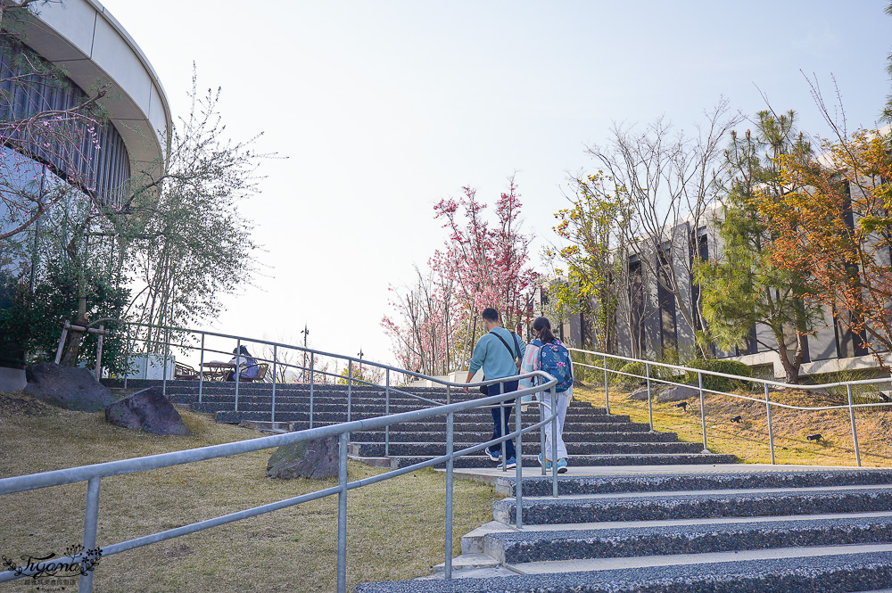
<path fill-rule="evenodd" d="M 729 191 L 724 217 L 717 221 L 723 240 L 720 259 L 699 262 L 698 284 L 711 337 L 723 348 L 739 347 L 753 338 L 756 324 L 767 325 L 772 340 L 755 340 L 780 356 L 787 383 L 798 383 L 805 355 L 805 336 L 822 318 L 808 301 L 809 265 L 776 265 L 777 244 L 758 210 L 764 202 L 779 202 L 796 188 L 780 177 L 781 156 L 806 158 L 811 148 L 797 134 L 795 113 L 760 111 L 756 134 L 731 134 L 725 152 Z M 792 262 L 791 262 L 792 263 Z"/>

